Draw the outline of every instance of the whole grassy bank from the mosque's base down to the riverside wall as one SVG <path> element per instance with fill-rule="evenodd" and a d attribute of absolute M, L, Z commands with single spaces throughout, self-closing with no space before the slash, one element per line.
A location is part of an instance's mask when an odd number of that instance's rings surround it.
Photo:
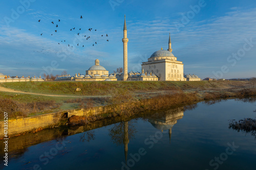
<path fill-rule="evenodd" d="M 160 107 L 164 104 L 154 103 L 163 94 L 168 94 L 176 99 L 177 92 L 183 93 L 180 98 L 189 99 L 196 94 L 195 101 L 214 100 L 230 96 L 243 98 L 254 95 L 254 90 L 249 90 L 248 82 L 243 81 L 199 81 L 199 82 L 15 82 L 2 83 L 1 86 L 28 91 L 39 94 L 65 94 L 62 96 L 44 96 L 36 94 L 0 92 L 0 113 L 8 112 L 10 118 L 17 116 L 33 116 L 60 110 L 78 108 L 91 108 L 95 106 L 111 105 L 118 108 L 120 103 L 129 103 L 135 108 L 146 108 L 148 105 L 135 106 L 134 103 L 150 102 Z M 81 88 L 81 91 L 75 91 Z M 160 93 L 159 93 L 160 92 Z M 78 97 L 74 98 L 72 95 Z M 175 95 L 173 95 L 175 94 Z M 94 95 L 94 96 L 88 96 Z M 97 96 L 95 96 L 97 95 Z M 107 96 L 102 96 L 107 95 Z M 166 98 L 166 96 L 165 96 Z M 153 101 L 151 101 L 153 99 Z M 164 99 L 166 101 L 170 99 Z M 178 103 L 188 103 L 188 101 Z M 173 103 L 168 103 L 174 105 Z M 152 106 L 150 106 L 152 107 Z M 136 110 L 127 108 L 127 110 Z M 155 108 L 158 109 L 158 108 Z M 0 114 L 0 119 L 2 119 Z"/>

